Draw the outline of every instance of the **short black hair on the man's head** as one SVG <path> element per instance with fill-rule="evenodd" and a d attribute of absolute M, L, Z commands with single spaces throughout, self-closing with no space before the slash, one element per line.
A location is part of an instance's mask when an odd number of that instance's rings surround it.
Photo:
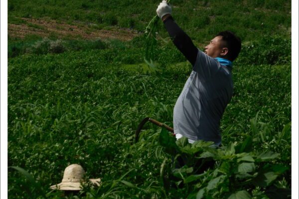
<path fill-rule="evenodd" d="M 234 61 L 241 51 L 241 39 L 231 31 L 220 32 L 217 36 L 221 36 L 221 40 L 226 43 L 225 47 L 228 48 L 228 59 Z"/>

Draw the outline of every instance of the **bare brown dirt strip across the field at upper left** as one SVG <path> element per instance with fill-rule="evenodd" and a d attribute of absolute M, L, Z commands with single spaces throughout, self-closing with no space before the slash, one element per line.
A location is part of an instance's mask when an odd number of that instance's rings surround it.
<path fill-rule="evenodd" d="M 88 27 L 80 22 L 72 25 L 57 23 L 49 19 L 21 18 L 26 21 L 23 24 L 8 23 L 8 35 L 24 38 L 27 34 L 49 37 L 55 35 L 58 38 L 68 39 L 119 39 L 122 41 L 131 40 L 138 35 L 137 31 L 128 29 L 98 30 Z"/>

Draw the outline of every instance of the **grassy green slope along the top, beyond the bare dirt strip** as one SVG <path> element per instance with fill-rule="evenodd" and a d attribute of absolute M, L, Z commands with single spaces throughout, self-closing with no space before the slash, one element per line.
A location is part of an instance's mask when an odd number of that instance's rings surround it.
<path fill-rule="evenodd" d="M 95 28 L 111 25 L 144 31 L 159 1 L 143 0 L 9 0 L 8 22 L 19 17 L 83 21 Z M 242 40 L 257 35 L 290 36 L 291 0 L 173 0 L 173 16 L 196 43 L 229 29 Z"/>

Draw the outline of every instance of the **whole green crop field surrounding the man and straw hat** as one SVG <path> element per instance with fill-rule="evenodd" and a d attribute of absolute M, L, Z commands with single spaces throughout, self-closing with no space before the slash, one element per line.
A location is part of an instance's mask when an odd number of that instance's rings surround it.
<path fill-rule="evenodd" d="M 200 49 L 227 29 L 242 39 L 218 148 L 151 123 L 135 143 L 145 117 L 172 126 L 191 72 L 161 22 L 157 70 L 144 61 L 158 3 L 8 0 L 9 199 L 291 198 L 291 1 L 171 0 Z M 196 174 L 199 158 L 216 164 Z M 100 187 L 50 190 L 70 164 Z"/>

